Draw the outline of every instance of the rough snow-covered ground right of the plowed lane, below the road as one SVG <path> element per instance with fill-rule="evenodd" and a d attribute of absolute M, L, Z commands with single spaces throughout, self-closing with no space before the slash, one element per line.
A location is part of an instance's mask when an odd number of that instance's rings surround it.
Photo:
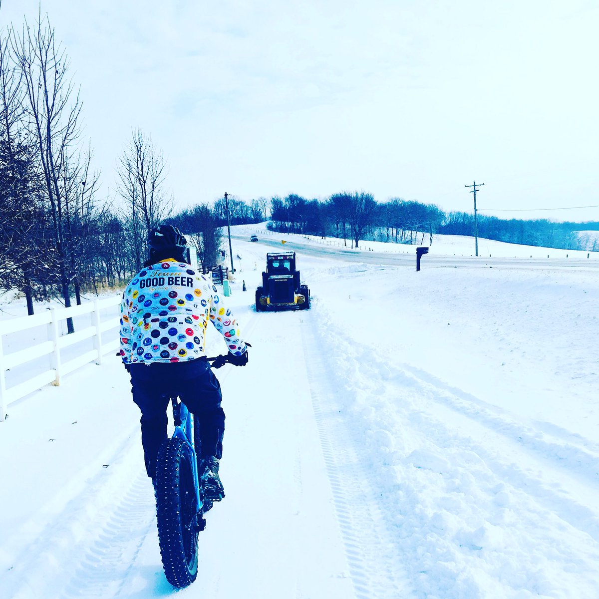
<path fill-rule="evenodd" d="M 418 596 L 594 597 L 597 281 L 375 271 L 322 287 L 320 347 Z"/>

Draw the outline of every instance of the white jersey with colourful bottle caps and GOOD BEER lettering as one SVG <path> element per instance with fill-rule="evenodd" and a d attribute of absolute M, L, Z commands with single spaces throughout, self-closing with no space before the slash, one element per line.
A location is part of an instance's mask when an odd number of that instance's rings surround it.
<path fill-rule="evenodd" d="M 120 305 L 120 354 L 125 364 L 179 362 L 204 355 L 210 320 L 229 352 L 247 351 L 237 320 L 216 286 L 189 264 L 172 259 L 137 273 Z"/>

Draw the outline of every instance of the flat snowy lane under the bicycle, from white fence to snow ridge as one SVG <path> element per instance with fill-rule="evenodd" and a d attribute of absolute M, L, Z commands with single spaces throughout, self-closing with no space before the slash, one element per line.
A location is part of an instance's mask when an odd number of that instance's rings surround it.
<path fill-rule="evenodd" d="M 329 403 L 319 401 L 326 373 L 317 365 L 314 340 L 305 337 L 310 313 L 258 315 L 247 305 L 237 311 L 254 347 L 249 367 L 219 371 L 227 414 L 221 467 L 227 496 L 207 515 L 198 581 L 180 593 L 224 599 L 398 597 L 406 582 L 397 548 L 381 524 L 376 492 L 358 449 L 347 444 L 346 432 L 338 434 L 342 417 L 331 397 Z M 214 335 L 212 340 L 217 341 Z M 213 353 L 220 350 L 214 347 Z M 0 546 L 2 597 L 105 599 L 173 592 L 162 573 L 138 415 L 122 367 L 116 358 L 108 362 L 83 368 L 60 389 L 44 389 L 29 406 L 35 412 L 58 395 L 58 412 L 41 413 L 50 429 L 73 419 L 71 429 L 62 425 L 55 436 L 68 452 L 81 453 L 81 464 L 65 468 L 64 455 L 63 461 L 29 464 L 31 455 L 16 452 L 15 476 L 2 492 L 28 493 L 23 512 L 29 518 L 4 522 L 4 530 L 11 530 Z M 110 399 L 107 375 L 115 389 Z M 83 385 L 96 391 L 86 397 L 84 414 L 77 398 Z M 25 418 L 26 403 L 8 422 Z M 94 411 L 107 408 L 96 420 L 95 435 L 84 441 L 72 432 L 79 422 L 90 433 Z M 25 447 L 28 440 L 12 430 L 10 444 Z M 29 441 L 48 443 L 47 430 L 36 434 Z M 31 486 L 19 488 L 16 473 L 30 466 Z"/>

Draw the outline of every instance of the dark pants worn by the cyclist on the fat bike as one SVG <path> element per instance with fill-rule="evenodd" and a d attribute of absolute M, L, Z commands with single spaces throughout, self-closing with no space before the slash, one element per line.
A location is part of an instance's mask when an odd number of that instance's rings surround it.
<path fill-rule="evenodd" d="M 225 412 L 220 407 L 220 384 L 206 358 L 131 364 L 129 374 L 133 401 L 141 410 L 141 444 L 148 476 L 156 476 L 158 450 L 167 438 L 170 397 L 179 396 L 189 412 L 199 417 L 202 447 L 198 457 L 213 455 L 221 458 Z"/>

